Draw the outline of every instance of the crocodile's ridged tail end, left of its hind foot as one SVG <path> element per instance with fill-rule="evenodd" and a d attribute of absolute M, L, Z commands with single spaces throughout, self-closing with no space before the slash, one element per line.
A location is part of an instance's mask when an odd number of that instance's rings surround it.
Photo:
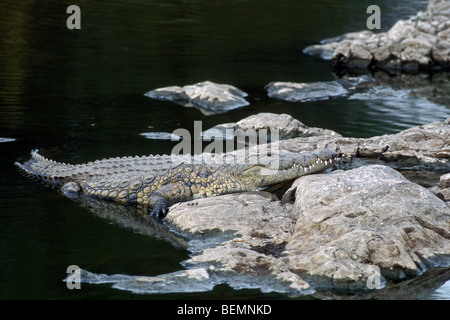
<path fill-rule="evenodd" d="M 25 163 L 16 162 L 15 165 L 28 177 L 37 179 L 50 187 L 59 189 L 65 182 L 71 180 L 72 165 L 49 160 L 31 151 L 31 159 Z"/>

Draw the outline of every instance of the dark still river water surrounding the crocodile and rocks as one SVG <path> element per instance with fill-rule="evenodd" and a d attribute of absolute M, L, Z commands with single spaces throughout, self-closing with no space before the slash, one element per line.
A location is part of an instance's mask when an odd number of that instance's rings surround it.
<path fill-rule="evenodd" d="M 69 30 L 66 9 L 81 8 Z M 439 103 L 390 106 L 333 99 L 288 103 L 267 97 L 272 81 L 334 80 L 329 61 L 302 54 L 321 39 L 366 28 L 381 8 L 382 29 L 426 9 L 426 1 L 10 1 L 0 3 L 0 298 L 284 298 L 226 285 L 194 294 L 136 295 L 109 285 L 68 290 L 69 265 L 106 274 L 182 270 L 185 249 L 139 234 L 22 177 L 14 162 L 30 150 L 80 163 L 170 153 L 174 142 L 141 133 L 203 129 L 259 112 L 288 113 L 309 126 L 370 137 L 443 120 Z M 144 96 L 210 80 L 249 94 L 250 105 L 206 116 Z M 429 107 L 429 109 L 427 109 Z M 447 289 L 448 290 L 448 289 Z M 450 297 L 450 291 L 444 296 Z"/>

